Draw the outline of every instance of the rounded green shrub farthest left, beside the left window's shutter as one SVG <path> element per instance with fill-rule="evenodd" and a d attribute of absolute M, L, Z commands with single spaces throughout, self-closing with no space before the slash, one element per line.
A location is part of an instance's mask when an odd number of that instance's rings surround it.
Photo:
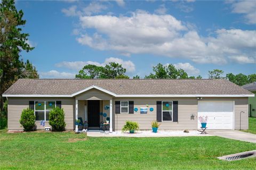
<path fill-rule="evenodd" d="M 20 124 L 23 126 L 25 131 L 31 131 L 35 127 L 36 116 L 34 111 L 30 108 L 23 109 L 20 116 Z"/>

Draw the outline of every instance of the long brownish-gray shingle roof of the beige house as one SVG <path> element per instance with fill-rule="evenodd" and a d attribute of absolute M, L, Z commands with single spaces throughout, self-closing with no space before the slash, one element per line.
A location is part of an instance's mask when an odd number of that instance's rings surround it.
<path fill-rule="evenodd" d="M 252 94 L 223 79 L 19 79 L 4 95 L 71 95 L 93 85 L 117 95 Z"/>

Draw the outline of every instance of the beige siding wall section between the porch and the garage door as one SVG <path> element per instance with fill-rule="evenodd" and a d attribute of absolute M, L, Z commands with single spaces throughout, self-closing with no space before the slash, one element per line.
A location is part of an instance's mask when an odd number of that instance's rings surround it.
<path fill-rule="evenodd" d="M 138 112 L 134 114 L 115 114 L 115 101 L 134 101 L 134 107 Z M 178 122 L 161 122 L 159 130 L 180 130 L 197 129 L 197 99 L 196 98 L 114 98 L 113 113 L 115 123 L 113 128 L 121 130 L 125 121 L 135 121 L 139 123 L 141 130 L 150 130 L 151 122 L 156 121 L 156 101 L 178 101 Z M 140 114 L 140 107 L 148 106 L 147 114 Z M 150 112 L 149 108 L 154 111 Z M 194 120 L 190 120 L 191 114 L 195 115 Z"/>

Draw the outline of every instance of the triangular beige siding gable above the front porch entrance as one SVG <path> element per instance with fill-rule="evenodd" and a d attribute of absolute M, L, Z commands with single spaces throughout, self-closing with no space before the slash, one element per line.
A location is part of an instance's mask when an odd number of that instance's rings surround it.
<path fill-rule="evenodd" d="M 77 100 L 109 100 L 112 96 L 98 89 L 91 89 L 76 96 Z"/>

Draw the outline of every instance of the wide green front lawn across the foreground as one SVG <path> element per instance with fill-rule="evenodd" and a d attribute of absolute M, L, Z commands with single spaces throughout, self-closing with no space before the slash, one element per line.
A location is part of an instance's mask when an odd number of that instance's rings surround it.
<path fill-rule="evenodd" d="M 256 158 L 218 156 L 256 149 L 220 137 L 91 138 L 73 132 L 0 131 L 1 169 L 255 169 Z M 78 140 L 78 141 L 77 141 Z"/>

